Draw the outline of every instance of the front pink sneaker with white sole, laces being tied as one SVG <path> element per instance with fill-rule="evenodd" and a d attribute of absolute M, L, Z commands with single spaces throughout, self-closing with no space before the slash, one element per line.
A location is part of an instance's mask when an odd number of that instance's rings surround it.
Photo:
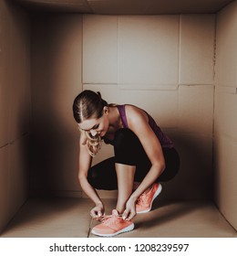
<path fill-rule="evenodd" d="M 122 219 L 116 209 L 113 209 L 112 215 L 102 217 L 101 221 L 101 224 L 91 230 L 92 234 L 100 237 L 113 237 L 134 229 L 134 223 L 131 220 Z"/>

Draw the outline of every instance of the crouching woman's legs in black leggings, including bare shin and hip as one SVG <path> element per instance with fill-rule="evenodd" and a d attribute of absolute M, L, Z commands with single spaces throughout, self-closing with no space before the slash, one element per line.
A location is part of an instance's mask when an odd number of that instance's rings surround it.
<path fill-rule="evenodd" d="M 151 166 L 139 138 L 129 129 L 119 129 L 114 140 L 115 157 L 108 158 L 88 171 L 89 183 L 97 189 L 118 189 L 119 211 L 132 192 L 133 184 L 141 182 Z M 168 181 L 179 171 L 180 157 L 175 148 L 163 148 L 166 169 L 156 182 Z"/>

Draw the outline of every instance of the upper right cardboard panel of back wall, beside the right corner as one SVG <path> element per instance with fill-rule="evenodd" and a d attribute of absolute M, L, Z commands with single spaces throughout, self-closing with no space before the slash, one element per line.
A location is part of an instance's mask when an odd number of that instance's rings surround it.
<path fill-rule="evenodd" d="M 180 84 L 212 84 L 214 15 L 180 17 Z"/>

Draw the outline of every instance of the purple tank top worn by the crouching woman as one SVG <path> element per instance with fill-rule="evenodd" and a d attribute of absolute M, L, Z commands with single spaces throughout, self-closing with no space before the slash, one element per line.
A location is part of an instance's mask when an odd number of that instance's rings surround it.
<path fill-rule="evenodd" d="M 125 105 L 117 105 L 117 108 L 118 108 L 118 112 L 121 117 L 123 127 L 129 128 L 127 117 L 126 117 L 126 112 L 125 112 Z M 160 130 L 160 127 L 157 125 L 155 120 L 149 115 L 148 112 L 147 112 L 147 115 L 149 118 L 149 126 L 151 127 L 152 131 L 157 135 L 161 146 L 162 147 L 173 147 L 174 144 L 172 143 L 170 138 Z"/>

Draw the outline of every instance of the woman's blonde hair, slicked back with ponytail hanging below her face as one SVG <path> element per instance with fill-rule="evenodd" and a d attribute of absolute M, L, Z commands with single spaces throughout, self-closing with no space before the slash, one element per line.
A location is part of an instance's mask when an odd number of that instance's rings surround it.
<path fill-rule="evenodd" d="M 98 119 L 103 115 L 105 106 L 108 106 L 108 103 L 101 98 L 99 92 L 82 91 L 73 102 L 74 118 L 78 124 L 89 118 Z M 79 130 L 86 138 L 89 155 L 95 157 L 101 148 L 103 140 L 98 134 L 92 136 L 87 131 Z"/>

